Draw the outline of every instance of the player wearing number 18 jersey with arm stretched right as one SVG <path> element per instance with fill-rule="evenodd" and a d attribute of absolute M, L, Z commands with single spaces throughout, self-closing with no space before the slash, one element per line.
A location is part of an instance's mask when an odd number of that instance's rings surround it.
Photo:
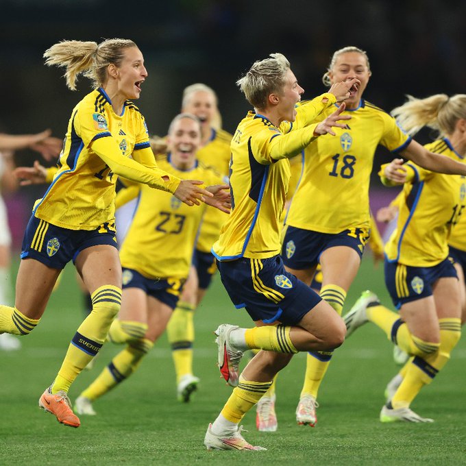
<path fill-rule="evenodd" d="M 320 295 L 339 315 L 369 238 L 369 180 L 376 147 L 383 145 L 431 171 L 465 173 L 462 164 L 432 154 L 404 134 L 389 114 L 363 99 L 370 77 L 365 51 L 345 47 L 333 54 L 324 84 L 360 80 L 345 101 L 343 114 L 351 114 L 352 120 L 336 129 L 337 137 L 324 136 L 306 149 L 303 182 L 293 197 L 282 243 L 286 270 L 306 284 L 320 263 Z M 323 116 L 332 110 L 328 108 Z M 315 426 L 317 393 L 331 358 L 331 351 L 308 354 L 296 410 L 298 424 Z"/>

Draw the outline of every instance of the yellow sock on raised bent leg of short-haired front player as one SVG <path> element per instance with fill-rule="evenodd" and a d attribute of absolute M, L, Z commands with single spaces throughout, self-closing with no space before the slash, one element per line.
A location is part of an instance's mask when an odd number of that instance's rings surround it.
<path fill-rule="evenodd" d="M 291 327 L 264 326 L 248 328 L 245 332 L 246 345 L 250 348 L 267 349 L 278 353 L 295 354 L 297 349 L 291 343 Z"/>

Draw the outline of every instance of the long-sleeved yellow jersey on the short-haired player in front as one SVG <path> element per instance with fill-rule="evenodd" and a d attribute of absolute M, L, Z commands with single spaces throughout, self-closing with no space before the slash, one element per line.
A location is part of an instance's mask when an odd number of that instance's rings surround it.
<path fill-rule="evenodd" d="M 323 99 L 328 99 L 323 102 Z M 212 252 L 219 260 L 268 258 L 280 253 L 280 217 L 290 179 L 288 158 L 315 140 L 315 121 L 334 103 L 324 94 L 297 109 L 293 124 L 280 128 L 265 116 L 249 112 L 232 139 L 230 187 L 232 212 Z"/>

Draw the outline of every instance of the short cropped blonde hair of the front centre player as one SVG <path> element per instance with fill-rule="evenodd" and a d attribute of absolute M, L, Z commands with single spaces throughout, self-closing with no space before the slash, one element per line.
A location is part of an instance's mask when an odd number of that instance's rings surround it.
<path fill-rule="evenodd" d="M 267 106 L 271 93 L 283 92 L 285 75 L 290 69 L 290 62 L 282 53 L 271 53 L 270 57 L 254 62 L 251 69 L 236 81 L 247 101 L 261 110 Z"/>

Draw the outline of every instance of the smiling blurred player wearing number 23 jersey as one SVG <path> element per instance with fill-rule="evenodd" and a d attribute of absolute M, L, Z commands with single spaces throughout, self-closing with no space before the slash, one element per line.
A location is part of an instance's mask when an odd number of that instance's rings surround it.
<path fill-rule="evenodd" d="M 201 125 L 196 116 L 175 116 L 167 143 L 169 154 L 158 158 L 160 169 L 180 179 L 194 176 L 210 184 L 221 182 L 221 177 L 196 159 L 201 144 Z M 227 195 L 225 192 L 225 199 Z M 121 189 L 116 195 L 117 208 L 134 197 L 138 197 L 138 205 L 120 249 L 121 310 L 108 335 L 110 341 L 125 347 L 77 398 L 75 408 L 82 415 L 95 415 L 93 402 L 134 373 L 164 332 L 188 278 L 197 231 L 206 210 L 205 204 L 190 208 L 170 193 L 141 184 Z"/>

